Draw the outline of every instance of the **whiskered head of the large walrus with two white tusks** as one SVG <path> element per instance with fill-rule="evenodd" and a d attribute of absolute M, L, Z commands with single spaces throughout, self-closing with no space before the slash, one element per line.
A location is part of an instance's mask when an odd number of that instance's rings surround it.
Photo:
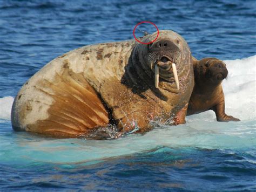
<path fill-rule="evenodd" d="M 141 42 L 152 42 L 156 37 L 157 32 L 143 37 Z M 188 76 L 193 76 L 190 48 L 184 38 L 174 31 L 159 31 L 158 38 L 151 44 L 138 43 L 133 56 L 133 60 L 139 60 L 144 72 L 151 78 L 151 84 L 158 89 L 179 93 L 191 81 Z"/>

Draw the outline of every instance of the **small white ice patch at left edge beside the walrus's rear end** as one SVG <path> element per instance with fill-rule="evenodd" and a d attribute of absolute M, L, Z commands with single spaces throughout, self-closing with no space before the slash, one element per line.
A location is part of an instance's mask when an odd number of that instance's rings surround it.
<path fill-rule="evenodd" d="M 11 120 L 11 106 L 14 98 L 11 96 L 0 98 L 0 119 Z"/>

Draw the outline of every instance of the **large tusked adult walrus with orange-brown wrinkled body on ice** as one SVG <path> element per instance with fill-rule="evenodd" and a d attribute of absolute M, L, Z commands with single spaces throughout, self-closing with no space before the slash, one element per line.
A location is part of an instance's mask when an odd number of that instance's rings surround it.
<path fill-rule="evenodd" d="M 156 37 L 157 32 L 140 40 Z M 57 138 L 103 139 L 135 127 L 145 132 L 152 120 L 173 117 L 179 124 L 193 83 L 190 48 L 176 32 L 160 31 L 150 45 L 88 45 L 52 60 L 23 85 L 12 106 L 12 127 Z"/>

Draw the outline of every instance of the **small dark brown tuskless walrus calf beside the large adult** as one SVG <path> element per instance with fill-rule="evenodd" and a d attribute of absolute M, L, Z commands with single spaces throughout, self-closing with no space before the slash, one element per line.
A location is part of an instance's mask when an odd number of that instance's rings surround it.
<path fill-rule="evenodd" d="M 225 113 L 225 99 L 221 82 L 227 77 L 226 64 L 217 58 L 193 58 L 194 89 L 187 115 L 213 110 L 217 121 L 240 121 Z"/>

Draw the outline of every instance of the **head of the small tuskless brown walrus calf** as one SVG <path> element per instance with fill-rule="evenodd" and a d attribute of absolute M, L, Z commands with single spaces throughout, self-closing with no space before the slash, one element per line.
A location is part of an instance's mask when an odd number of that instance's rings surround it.
<path fill-rule="evenodd" d="M 226 64 L 217 58 L 204 58 L 194 64 L 195 79 L 208 82 L 209 85 L 220 84 L 227 77 Z"/>

